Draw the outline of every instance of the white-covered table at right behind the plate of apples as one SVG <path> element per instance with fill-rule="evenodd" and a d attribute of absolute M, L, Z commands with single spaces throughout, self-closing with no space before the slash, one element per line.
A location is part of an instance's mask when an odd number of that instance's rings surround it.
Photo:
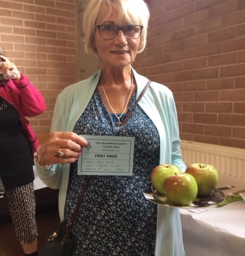
<path fill-rule="evenodd" d="M 235 185 L 225 194 L 245 189 L 243 179 L 219 176 L 218 186 Z M 180 209 L 187 256 L 244 256 L 245 202 L 209 207 L 200 213 Z"/>

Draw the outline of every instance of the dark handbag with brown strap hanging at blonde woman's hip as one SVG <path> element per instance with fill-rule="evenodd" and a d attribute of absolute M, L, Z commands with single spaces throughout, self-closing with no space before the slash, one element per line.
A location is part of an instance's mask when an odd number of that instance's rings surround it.
<path fill-rule="evenodd" d="M 77 215 L 80 204 L 82 203 L 84 194 L 88 188 L 88 185 L 92 179 L 92 176 L 89 176 L 86 184 L 83 188 L 83 191 L 78 199 L 77 205 L 74 212 L 71 215 L 70 221 L 66 223 L 65 221 L 61 222 L 54 231 L 51 232 L 50 236 L 44 242 L 43 248 L 39 256 L 71 256 L 72 250 L 74 247 L 74 240 L 70 235 L 70 228 L 74 219 Z"/>

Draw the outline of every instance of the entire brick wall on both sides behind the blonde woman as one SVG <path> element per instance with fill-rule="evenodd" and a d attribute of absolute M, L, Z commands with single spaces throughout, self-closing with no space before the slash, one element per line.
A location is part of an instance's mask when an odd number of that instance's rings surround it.
<path fill-rule="evenodd" d="M 81 2 L 0 1 L 0 42 L 45 97 L 47 111 L 30 119 L 37 133 L 50 131 L 57 94 L 78 80 L 78 59 L 88 63 L 77 57 Z M 148 44 L 134 68 L 174 92 L 182 139 L 245 148 L 245 1 L 147 2 Z"/>

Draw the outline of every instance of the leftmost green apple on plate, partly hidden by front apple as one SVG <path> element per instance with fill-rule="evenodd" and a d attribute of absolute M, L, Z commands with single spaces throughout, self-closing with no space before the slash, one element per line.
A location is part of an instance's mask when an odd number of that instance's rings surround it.
<path fill-rule="evenodd" d="M 153 168 L 151 172 L 151 182 L 159 194 L 165 195 L 164 181 L 173 174 L 182 174 L 181 169 L 173 164 L 160 164 Z"/>

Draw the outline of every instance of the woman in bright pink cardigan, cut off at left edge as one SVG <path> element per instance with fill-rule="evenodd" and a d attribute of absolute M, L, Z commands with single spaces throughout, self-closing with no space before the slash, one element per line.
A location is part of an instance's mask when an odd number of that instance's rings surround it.
<path fill-rule="evenodd" d="M 33 153 L 39 146 L 25 116 L 45 111 L 41 93 L 6 57 L 0 46 L 0 176 L 17 241 L 37 255 Z"/>

